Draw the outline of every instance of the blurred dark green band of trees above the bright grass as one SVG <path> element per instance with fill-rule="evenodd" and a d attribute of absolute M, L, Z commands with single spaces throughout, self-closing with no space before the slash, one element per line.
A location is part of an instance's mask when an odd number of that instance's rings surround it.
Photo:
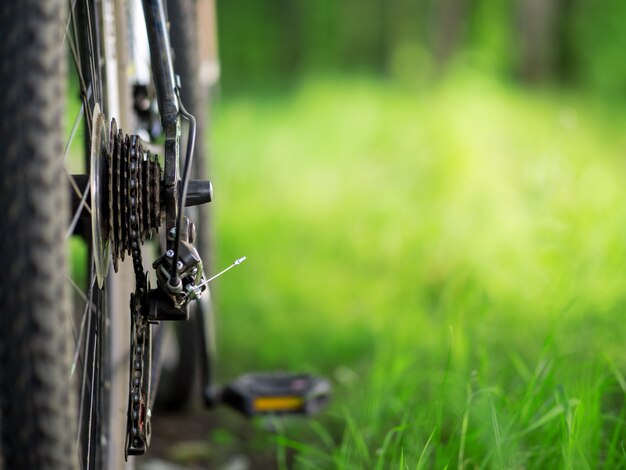
<path fill-rule="evenodd" d="M 423 80 L 431 57 L 461 55 L 626 95 L 624 0 L 229 0 L 218 15 L 225 86 L 346 71 Z"/>

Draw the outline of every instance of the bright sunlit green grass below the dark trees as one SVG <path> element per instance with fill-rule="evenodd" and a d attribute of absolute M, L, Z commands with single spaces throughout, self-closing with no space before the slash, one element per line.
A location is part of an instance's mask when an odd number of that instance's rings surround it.
<path fill-rule="evenodd" d="M 224 98 L 213 150 L 222 377 L 334 382 L 296 467 L 624 467 L 626 112 L 316 80 Z"/>

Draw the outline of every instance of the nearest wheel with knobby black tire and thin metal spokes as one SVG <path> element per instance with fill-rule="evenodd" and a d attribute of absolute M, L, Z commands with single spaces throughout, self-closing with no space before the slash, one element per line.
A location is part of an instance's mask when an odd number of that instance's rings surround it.
<path fill-rule="evenodd" d="M 119 468 L 107 462 L 106 449 L 107 283 L 96 282 L 85 205 L 70 210 L 76 195 L 69 188 L 87 191 L 65 158 L 72 139 L 64 131 L 67 56 L 82 75 L 87 149 L 91 112 L 103 101 L 102 69 L 85 63 L 101 57 L 99 18 L 95 2 L 70 2 L 77 11 L 69 16 L 67 4 L 0 6 L 0 427 L 7 469 Z M 82 240 L 83 255 L 68 253 L 71 239 Z"/>

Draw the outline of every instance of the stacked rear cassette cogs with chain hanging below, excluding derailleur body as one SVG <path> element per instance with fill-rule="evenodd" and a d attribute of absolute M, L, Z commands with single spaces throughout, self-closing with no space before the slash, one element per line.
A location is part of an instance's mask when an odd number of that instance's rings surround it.
<path fill-rule="evenodd" d="M 144 152 L 138 136 L 110 129 L 105 227 L 112 245 L 113 266 L 128 254 L 133 259 L 135 292 L 130 297 L 131 338 L 126 456 L 145 453 L 150 443 L 151 326 L 148 321 L 148 281 L 141 246 L 161 221 L 161 169 L 156 157 Z"/>

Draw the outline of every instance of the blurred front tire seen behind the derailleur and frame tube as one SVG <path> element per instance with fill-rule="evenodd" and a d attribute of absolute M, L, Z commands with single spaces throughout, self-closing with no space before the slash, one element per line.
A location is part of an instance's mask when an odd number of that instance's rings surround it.
<path fill-rule="evenodd" d="M 174 69 L 180 76 L 182 84 L 181 100 L 196 118 L 198 129 L 192 178 L 205 179 L 208 170 L 208 155 L 204 144 L 207 93 L 199 83 L 197 5 L 194 0 L 169 0 L 167 7 Z M 208 207 L 196 206 L 187 212 L 196 225 L 195 245 L 203 260 L 204 270 L 210 272 L 211 231 Z M 166 326 L 173 331 L 164 332 L 165 335 L 169 335 L 170 341 L 167 341 L 169 350 L 166 349 L 162 353 L 164 360 L 156 396 L 156 404 L 161 408 L 181 409 L 190 403 L 192 394 L 198 391 L 198 364 L 202 363 L 199 355 L 204 352 L 203 348 L 199 347 L 198 333 L 202 322 L 197 317 L 207 313 L 202 309 L 206 309 L 208 305 L 194 302 L 189 321 Z"/>

